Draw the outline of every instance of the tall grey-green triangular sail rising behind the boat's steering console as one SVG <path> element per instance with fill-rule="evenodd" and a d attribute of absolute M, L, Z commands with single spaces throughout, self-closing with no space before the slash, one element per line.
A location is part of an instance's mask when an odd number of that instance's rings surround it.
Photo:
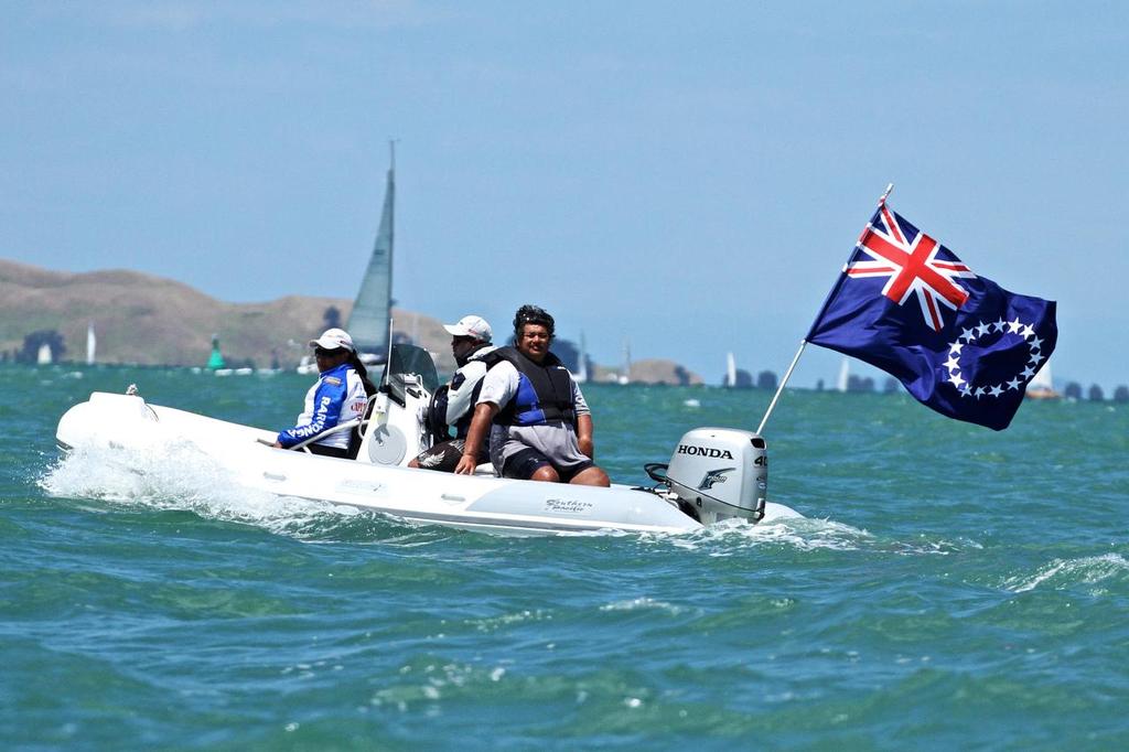
<path fill-rule="evenodd" d="M 380 228 L 373 245 L 373 255 L 361 281 L 345 329 L 357 344 L 357 351 L 370 353 L 383 362 L 388 352 L 388 322 L 392 317 L 392 250 L 395 239 L 396 163 L 393 152 Z"/>

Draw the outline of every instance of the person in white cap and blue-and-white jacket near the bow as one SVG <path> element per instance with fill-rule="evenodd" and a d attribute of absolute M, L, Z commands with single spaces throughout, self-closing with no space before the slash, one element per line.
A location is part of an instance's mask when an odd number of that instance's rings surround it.
<path fill-rule="evenodd" d="M 306 405 L 298 416 L 298 425 L 280 431 L 274 446 L 288 449 L 314 436 L 325 438 L 307 445 L 314 454 L 331 457 L 349 456 L 352 431 L 327 432 L 339 423 L 365 417 L 368 397 L 376 387 L 368 381 L 368 371 L 357 357 L 352 338 L 343 329 L 327 329 L 316 340 L 310 340 L 317 362 L 317 383 L 306 393 Z"/>

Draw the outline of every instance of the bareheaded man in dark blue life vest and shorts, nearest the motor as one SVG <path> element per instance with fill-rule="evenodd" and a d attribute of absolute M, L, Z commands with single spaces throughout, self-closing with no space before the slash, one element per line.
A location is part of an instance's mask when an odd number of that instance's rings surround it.
<path fill-rule="evenodd" d="M 471 474 L 489 431 L 490 460 L 505 478 L 611 486 L 593 462 L 592 411 L 560 359 L 549 351 L 553 317 L 537 306 L 514 316 L 516 348 L 499 348 L 466 435 L 456 473 Z"/>

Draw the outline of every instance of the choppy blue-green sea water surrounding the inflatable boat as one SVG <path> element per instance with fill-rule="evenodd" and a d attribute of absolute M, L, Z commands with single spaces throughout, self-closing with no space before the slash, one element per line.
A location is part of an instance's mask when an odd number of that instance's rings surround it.
<path fill-rule="evenodd" d="M 281 428 L 310 379 L 0 368 L 0 747 L 1129 747 L 1129 405 L 789 392 L 769 495 L 806 518 L 514 539 L 60 461 L 130 383 Z M 620 482 L 771 396 L 585 394 Z"/>

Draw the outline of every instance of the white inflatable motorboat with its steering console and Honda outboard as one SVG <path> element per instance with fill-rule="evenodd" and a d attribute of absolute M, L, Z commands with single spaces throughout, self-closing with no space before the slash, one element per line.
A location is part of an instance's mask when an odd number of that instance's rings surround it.
<path fill-rule="evenodd" d="M 131 457 L 190 444 L 226 469 L 233 481 L 278 496 L 374 509 L 403 519 L 504 534 L 539 535 L 616 530 L 679 533 L 721 519 L 751 523 L 798 516 L 769 502 L 764 440 L 750 431 L 699 428 L 679 441 L 668 465 L 650 464 L 651 488 L 594 488 L 406 466 L 429 445 L 428 405 L 438 385 L 430 356 L 393 348 L 390 368 L 367 420 L 356 428 L 356 460 L 271 446 L 273 431 L 96 392 L 59 421 L 63 452 L 117 449 Z M 138 467 L 140 470 L 140 467 Z"/>

